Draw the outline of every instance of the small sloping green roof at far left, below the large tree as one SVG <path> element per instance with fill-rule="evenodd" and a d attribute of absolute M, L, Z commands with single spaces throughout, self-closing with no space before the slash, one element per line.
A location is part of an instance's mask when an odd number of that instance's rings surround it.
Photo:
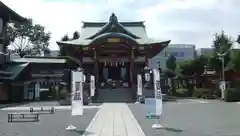
<path fill-rule="evenodd" d="M 14 80 L 28 65 L 29 63 L 10 64 L 5 70 L 6 72 L 11 73 L 11 76 L 8 79 Z"/>

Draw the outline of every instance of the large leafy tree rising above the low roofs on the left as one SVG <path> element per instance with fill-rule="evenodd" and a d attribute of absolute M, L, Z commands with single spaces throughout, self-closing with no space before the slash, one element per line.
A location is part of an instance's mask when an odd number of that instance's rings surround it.
<path fill-rule="evenodd" d="M 39 54 L 48 47 L 51 38 L 50 32 L 45 32 L 44 26 L 33 24 L 32 19 L 28 23 L 11 23 L 7 27 L 7 40 L 5 45 L 11 52 L 20 57 Z"/>

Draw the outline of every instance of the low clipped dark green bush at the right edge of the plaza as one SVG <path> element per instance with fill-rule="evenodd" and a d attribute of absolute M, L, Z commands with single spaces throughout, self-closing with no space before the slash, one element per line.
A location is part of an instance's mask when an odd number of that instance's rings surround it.
<path fill-rule="evenodd" d="M 226 102 L 240 101 L 239 88 L 227 88 L 224 91 L 224 101 Z"/>

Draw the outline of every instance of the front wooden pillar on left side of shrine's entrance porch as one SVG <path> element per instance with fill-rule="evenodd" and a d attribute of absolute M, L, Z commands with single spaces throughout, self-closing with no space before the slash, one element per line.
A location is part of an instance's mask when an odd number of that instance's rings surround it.
<path fill-rule="evenodd" d="M 95 97 L 98 96 L 98 88 L 99 88 L 99 67 L 98 67 L 98 53 L 96 49 L 93 49 L 94 51 L 94 74 L 95 74 L 95 81 L 96 81 L 96 92 L 95 92 Z"/>

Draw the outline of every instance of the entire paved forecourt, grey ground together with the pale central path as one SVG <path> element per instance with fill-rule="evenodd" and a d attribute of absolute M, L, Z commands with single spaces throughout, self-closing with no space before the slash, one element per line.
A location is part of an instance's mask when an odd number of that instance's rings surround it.
<path fill-rule="evenodd" d="M 240 105 L 218 100 L 165 102 L 161 124 L 153 129 L 144 104 L 103 103 L 84 108 L 83 116 L 71 116 L 70 108 L 40 115 L 37 123 L 7 123 L 7 113 L 27 106 L 53 106 L 36 102 L 0 110 L 1 136 L 239 136 Z M 60 107 L 59 105 L 55 105 Z M 15 109 L 14 109 L 15 108 Z M 76 131 L 66 131 L 68 124 Z"/>

